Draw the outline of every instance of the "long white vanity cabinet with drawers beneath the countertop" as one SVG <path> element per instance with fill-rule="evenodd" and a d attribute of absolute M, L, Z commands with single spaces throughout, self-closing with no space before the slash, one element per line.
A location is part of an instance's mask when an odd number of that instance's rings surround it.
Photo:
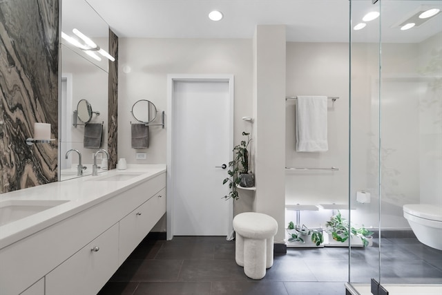
<path fill-rule="evenodd" d="M 118 189 L 0 249 L 0 295 L 97 294 L 166 212 L 165 171 Z"/>

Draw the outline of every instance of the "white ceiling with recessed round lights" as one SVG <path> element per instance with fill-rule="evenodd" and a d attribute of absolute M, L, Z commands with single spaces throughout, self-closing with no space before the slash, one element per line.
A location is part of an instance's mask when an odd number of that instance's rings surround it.
<path fill-rule="evenodd" d="M 287 41 L 348 42 L 349 0 L 87 0 L 120 37 L 252 38 L 258 24 L 285 24 Z M 442 9 L 442 0 L 378 1 L 382 40 L 421 42 L 442 31 L 442 13 L 418 28 L 401 31 L 398 23 L 425 6 Z M 371 0 L 354 0 L 353 25 L 365 13 L 379 10 Z M 224 14 L 210 21 L 211 10 Z M 352 31 L 352 41 L 378 41 L 379 21 Z M 396 25 L 396 27 L 394 27 Z"/>

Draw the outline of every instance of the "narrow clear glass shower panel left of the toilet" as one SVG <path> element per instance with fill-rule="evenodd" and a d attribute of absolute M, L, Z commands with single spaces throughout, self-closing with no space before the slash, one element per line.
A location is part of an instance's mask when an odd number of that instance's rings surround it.
<path fill-rule="evenodd" d="M 363 19 L 369 12 L 380 12 L 380 3 L 356 0 L 350 5 L 349 220 L 352 227 L 374 234 L 372 245 L 349 248 L 349 282 L 368 286 L 371 278 L 379 280 L 380 19 Z M 361 23 L 365 27 L 358 30 Z"/>

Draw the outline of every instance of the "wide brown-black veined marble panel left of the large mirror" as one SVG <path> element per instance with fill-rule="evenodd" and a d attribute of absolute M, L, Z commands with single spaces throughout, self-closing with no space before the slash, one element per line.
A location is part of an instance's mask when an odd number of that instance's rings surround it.
<path fill-rule="evenodd" d="M 0 193 L 57 181 L 58 32 L 58 0 L 0 1 Z M 51 144 L 26 144 L 35 122 Z"/>

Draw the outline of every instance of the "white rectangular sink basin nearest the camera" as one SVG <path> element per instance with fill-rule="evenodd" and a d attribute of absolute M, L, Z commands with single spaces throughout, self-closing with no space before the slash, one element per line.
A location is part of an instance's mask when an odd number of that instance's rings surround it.
<path fill-rule="evenodd" d="M 0 201 L 0 227 L 15 220 L 50 209 L 68 200 L 4 200 Z"/>

